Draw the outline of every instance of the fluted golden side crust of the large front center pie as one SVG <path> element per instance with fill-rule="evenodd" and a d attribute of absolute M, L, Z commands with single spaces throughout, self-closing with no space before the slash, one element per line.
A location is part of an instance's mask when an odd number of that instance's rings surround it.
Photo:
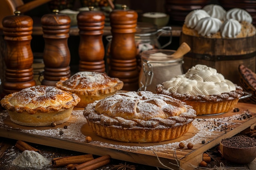
<path fill-rule="evenodd" d="M 90 129 L 96 135 L 106 139 L 112 139 L 121 142 L 153 143 L 168 141 L 181 137 L 189 130 L 193 121 L 181 126 L 158 129 L 117 128 L 113 126 L 97 124 L 93 121 L 88 121 L 88 119 L 87 122 Z"/>

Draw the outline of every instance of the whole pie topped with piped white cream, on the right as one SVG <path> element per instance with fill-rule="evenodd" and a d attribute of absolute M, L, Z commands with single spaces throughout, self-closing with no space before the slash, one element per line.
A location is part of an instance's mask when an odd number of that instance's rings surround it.
<path fill-rule="evenodd" d="M 193 107 L 197 115 L 228 112 L 243 96 L 243 88 L 217 73 L 215 68 L 197 64 L 187 73 L 157 84 L 158 94 L 169 95 Z"/>

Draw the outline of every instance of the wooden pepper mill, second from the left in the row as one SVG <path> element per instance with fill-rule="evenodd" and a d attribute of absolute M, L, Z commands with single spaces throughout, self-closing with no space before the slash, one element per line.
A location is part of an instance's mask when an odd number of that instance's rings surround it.
<path fill-rule="evenodd" d="M 70 77 L 70 50 L 67 46 L 70 22 L 70 17 L 58 13 L 57 9 L 41 18 L 45 40 L 43 85 L 55 86 L 61 77 Z"/>

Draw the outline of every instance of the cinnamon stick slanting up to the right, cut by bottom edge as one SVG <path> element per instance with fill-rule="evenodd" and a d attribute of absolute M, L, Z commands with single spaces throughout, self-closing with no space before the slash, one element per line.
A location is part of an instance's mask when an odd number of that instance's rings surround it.
<path fill-rule="evenodd" d="M 104 155 L 91 161 L 81 163 L 74 168 L 75 170 L 95 170 L 104 165 L 107 165 L 108 163 L 110 163 L 110 155 Z"/>

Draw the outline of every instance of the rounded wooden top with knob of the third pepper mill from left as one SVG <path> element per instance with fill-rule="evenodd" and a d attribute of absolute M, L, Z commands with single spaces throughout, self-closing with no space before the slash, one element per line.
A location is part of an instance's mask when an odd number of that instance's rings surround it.
<path fill-rule="evenodd" d="M 93 11 L 94 7 L 89 7 L 90 11 L 82 11 L 77 14 L 78 26 L 101 26 L 105 24 L 105 15 L 102 11 Z"/>

